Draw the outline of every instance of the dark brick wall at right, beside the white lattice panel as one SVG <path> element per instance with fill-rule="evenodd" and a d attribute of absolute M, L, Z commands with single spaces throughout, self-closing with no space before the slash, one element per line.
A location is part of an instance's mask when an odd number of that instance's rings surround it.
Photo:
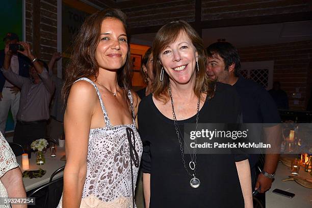
<path fill-rule="evenodd" d="M 312 80 L 312 41 L 246 47 L 239 52 L 242 62 L 274 60 L 273 81 L 279 81 L 287 92 L 290 109 L 306 109 Z M 301 98 L 293 98 L 298 87 Z M 294 105 L 294 100 L 299 104 Z"/>

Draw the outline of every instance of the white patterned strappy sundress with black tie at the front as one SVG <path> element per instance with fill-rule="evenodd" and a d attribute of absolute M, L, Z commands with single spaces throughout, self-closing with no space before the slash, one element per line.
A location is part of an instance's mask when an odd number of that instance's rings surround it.
<path fill-rule="evenodd" d="M 87 155 L 87 176 L 82 193 L 81 208 L 128 208 L 133 207 L 132 188 L 136 188 L 138 167 L 131 161 L 127 131 L 131 129 L 131 142 L 141 161 L 142 141 L 133 124 L 112 126 L 97 86 L 87 78 L 98 95 L 106 127 L 90 129 Z M 131 92 L 128 98 L 133 109 Z M 134 111 L 133 111 L 134 113 Z M 135 138 L 135 140 L 134 140 Z M 132 171 L 131 171 L 132 163 Z M 133 183 L 132 183 L 133 178 Z M 63 198 L 63 197 L 62 197 Z M 62 198 L 58 208 L 62 207 Z"/>

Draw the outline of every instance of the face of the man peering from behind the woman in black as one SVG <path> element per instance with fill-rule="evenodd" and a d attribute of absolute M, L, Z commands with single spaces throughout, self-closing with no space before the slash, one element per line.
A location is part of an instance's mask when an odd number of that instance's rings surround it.
<path fill-rule="evenodd" d="M 212 79 L 218 79 L 219 82 L 228 83 L 229 71 L 225 70 L 223 58 L 218 54 L 207 58 L 207 74 Z"/>

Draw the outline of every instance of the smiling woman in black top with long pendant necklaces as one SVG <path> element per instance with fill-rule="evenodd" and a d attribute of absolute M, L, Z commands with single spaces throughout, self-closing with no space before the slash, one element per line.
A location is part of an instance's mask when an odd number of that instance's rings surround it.
<path fill-rule="evenodd" d="M 153 95 L 138 112 L 146 207 L 252 207 L 247 155 L 181 148 L 184 124 L 238 121 L 235 89 L 207 79 L 202 40 L 185 21 L 160 29 L 153 57 Z"/>

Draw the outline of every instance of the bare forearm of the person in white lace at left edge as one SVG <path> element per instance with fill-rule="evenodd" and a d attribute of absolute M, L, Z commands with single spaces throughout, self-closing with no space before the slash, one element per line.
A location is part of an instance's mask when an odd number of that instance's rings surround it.
<path fill-rule="evenodd" d="M 1 177 L 1 182 L 8 192 L 8 196 L 10 198 L 14 197 L 26 197 L 25 188 L 22 181 L 21 171 L 19 167 L 14 168 L 6 172 Z M 23 205 L 14 205 L 12 204 L 12 208 L 27 208 L 27 204 Z"/>

